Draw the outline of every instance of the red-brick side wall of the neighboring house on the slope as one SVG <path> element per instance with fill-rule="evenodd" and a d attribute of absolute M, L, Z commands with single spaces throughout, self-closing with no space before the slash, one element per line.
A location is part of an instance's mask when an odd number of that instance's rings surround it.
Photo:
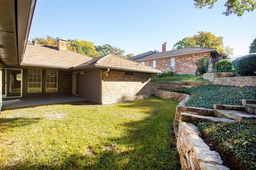
<path fill-rule="evenodd" d="M 145 65 L 153 66 L 153 60 L 156 60 L 156 69 L 163 72 L 171 70 L 171 58 L 175 58 L 175 73 L 177 74 L 195 74 L 196 73 L 196 62 L 199 61 L 204 56 L 211 57 L 211 53 L 195 53 L 190 55 L 181 55 L 174 57 L 164 57 L 151 60 L 145 60 Z M 142 61 L 138 61 L 140 63 Z"/>

